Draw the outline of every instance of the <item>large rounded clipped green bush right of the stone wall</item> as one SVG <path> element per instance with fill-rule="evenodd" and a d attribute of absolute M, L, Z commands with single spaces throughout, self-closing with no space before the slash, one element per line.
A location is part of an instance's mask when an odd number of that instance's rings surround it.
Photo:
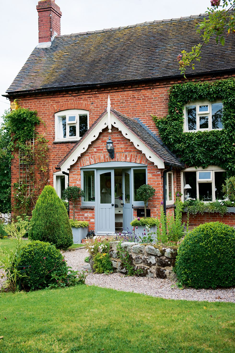
<path fill-rule="evenodd" d="M 178 281 L 194 288 L 235 285 L 235 229 L 221 222 L 194 228 L 179 246 Z"/>

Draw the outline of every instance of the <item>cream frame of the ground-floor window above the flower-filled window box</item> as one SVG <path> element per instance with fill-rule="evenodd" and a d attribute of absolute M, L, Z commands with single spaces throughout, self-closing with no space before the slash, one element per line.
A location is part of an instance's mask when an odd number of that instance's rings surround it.
<path fill-rule="evenodd" d="M 184 199 L 184 173 L 185 172 L 196 172 L 197 199 L 199 199 L 199 186 L 198 186 L 198 184 L 200 184 L 200 183 L 210 183 L 210 184 L 212 184 L 212 201 L 211 202 L 216 201 L 216 197 L 215 197 L 215 172 L 226 172 L 225 169 L 217 167 L 217 166 L 208 166 L 208 167 L 206 167 L 204 169 L 202 167 L 199 167 L 199 168 L 190 167 L 190 168 L 186 168 L 183 171 L 181 171 L 181 193 L 182 193 L 181 201 L 182 202 L 185 201 L 185 199 Z M 211 180 L 209 180 L 209 179 L 199 179 L 198 180 L 198 173 L 199 172 L 211 172 Z M 203 202 L 206 203 L 206 202 L 210 202 L 210 201 L 203 201 Z"/>

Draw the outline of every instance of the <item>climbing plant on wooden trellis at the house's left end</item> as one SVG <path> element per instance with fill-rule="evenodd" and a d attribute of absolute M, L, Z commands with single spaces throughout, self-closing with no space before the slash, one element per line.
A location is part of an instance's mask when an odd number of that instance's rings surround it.
<path fill-rule="evenodd" d="M 18 159 L 18 181 L 13 184 L 14 213 L 23 214 L 31 211 L 48 184 L 48 141 L 35 131 L 41 121 L 36 110 L 19 107 L 8 112 L 5 121 L 11 134 L 11 152 Z"/>

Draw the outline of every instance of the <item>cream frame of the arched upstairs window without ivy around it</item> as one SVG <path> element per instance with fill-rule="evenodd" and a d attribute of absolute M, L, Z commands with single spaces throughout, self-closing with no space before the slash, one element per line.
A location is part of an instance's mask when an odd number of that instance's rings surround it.
<path fill-rule="evenodd" d="M 87 114 L 87 130 L 89 129 L 89 111 L 84 109 L 67 109 L 55 113 L 55 141 L 80 140 L 79 136 L 79 115 Z M 66 138 L 58 138 L 58 117 L 66 116 Z M 75 121 L 69 121 L 69 116 L 75 115 Z M 69 136 L 69 126 L 76 126 L 76 136 Z"/>

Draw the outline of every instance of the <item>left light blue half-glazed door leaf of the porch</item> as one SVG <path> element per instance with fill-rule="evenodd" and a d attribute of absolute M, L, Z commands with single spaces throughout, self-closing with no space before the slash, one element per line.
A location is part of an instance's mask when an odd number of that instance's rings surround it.
<path fill-rule="evenodd" d="M 115 233 L 114 170 L 97 170 L 97 234 Z"/>

